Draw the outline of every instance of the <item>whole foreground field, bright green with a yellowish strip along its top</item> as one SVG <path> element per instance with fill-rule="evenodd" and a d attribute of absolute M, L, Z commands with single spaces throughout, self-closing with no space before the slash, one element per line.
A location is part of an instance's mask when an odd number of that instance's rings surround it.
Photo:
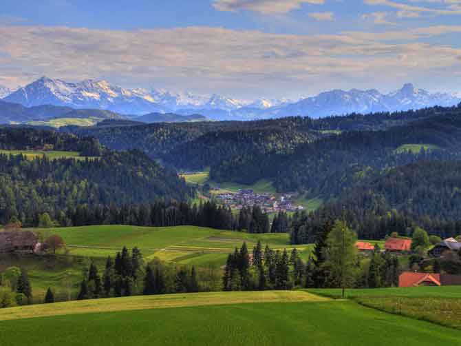
<path fill-rule="evenodd" d="M 113 298 L 3 309 L 0 319 L 21 319 L 0 321 L 0 335 L 2 343 L 11 346 L 97 345 L 102 340 L 105 345 L 124 346 L 387 346 L 389 336 L 394 345 L 432 346 L 457 345 L 461 338 L 455 329 L 352 301 L 316 301 L 291 294 L 297 292 Z M 187 306 L 178 307 L 182 304 Z M 175 307 L 155 308 L 166 306 Z M 106 307 L 131 310 L 100 312 Z M 73 315 L 48 316 L 63 313 Z"/>

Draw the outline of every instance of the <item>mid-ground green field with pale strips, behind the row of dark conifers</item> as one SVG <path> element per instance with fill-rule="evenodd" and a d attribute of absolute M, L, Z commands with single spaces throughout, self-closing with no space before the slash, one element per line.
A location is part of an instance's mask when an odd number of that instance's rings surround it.
<path fill-rule="evenodd" d="M 114 256 L 123 246 L 137 246 L 147 259 L 157 256 L 165 261 L 188 265 L 224 265 L 227 254 L 235 247 L 241 247 L 244 241 L 250 250 L 257 241 L 273 249 L 289 250 L 293 247 L 289 244 L 288 234 L 248 234 L 195 226 L 99 225 L 34 231 L 42 232 L 44 237 L 59 234 L 67 244 L 69 254 L 77 256 L 105 258 Z M 312 245 L 296 247 L 306 257 L 312 249 Z"/>

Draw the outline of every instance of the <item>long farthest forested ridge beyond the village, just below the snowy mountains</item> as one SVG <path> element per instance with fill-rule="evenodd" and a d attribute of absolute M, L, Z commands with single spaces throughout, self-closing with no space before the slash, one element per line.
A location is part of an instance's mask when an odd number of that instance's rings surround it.
<path fill-rule="evenodd" d="M 325 119 L 288 117 L 264 121 L 127 124 L 61 128 L 94 136 L 114 150 L 138 149 L 175 169 L 197 170 L 238 156 L 290 154 L 303 143 L 350 131 L 387 130 L 396 125 L 453 112 L 457 108 L 427 108 L 417 111 L 350 114 Z M 107 124 L 109 124 L 107 122 Z M 191 159 L 192 158 L 192 159 Z"/>

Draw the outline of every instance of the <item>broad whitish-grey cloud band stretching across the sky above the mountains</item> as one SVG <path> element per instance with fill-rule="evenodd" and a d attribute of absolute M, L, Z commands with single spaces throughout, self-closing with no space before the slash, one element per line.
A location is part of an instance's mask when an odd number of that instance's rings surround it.
<path fill-rule="evenodd" d="M 395 83 L 395 76 L 447 81 L 460 68 L 461 49 L 418 43 L 447 32 L 461 32 L 461 26 L 337 35 L 204 27 L 116 31 L 3 26 L 0 84 L 16 87 L 48 75 L 248 96 L 367 87 L 376 80 Z"/>

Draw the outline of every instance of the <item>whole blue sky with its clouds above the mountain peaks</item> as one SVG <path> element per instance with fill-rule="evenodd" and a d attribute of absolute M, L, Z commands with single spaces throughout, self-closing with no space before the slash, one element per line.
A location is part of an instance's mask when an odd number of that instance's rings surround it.
<path fill-rule="evenodd" d="M 0 85 L 461 92 L 461 0 L 2 0 Z"/>

